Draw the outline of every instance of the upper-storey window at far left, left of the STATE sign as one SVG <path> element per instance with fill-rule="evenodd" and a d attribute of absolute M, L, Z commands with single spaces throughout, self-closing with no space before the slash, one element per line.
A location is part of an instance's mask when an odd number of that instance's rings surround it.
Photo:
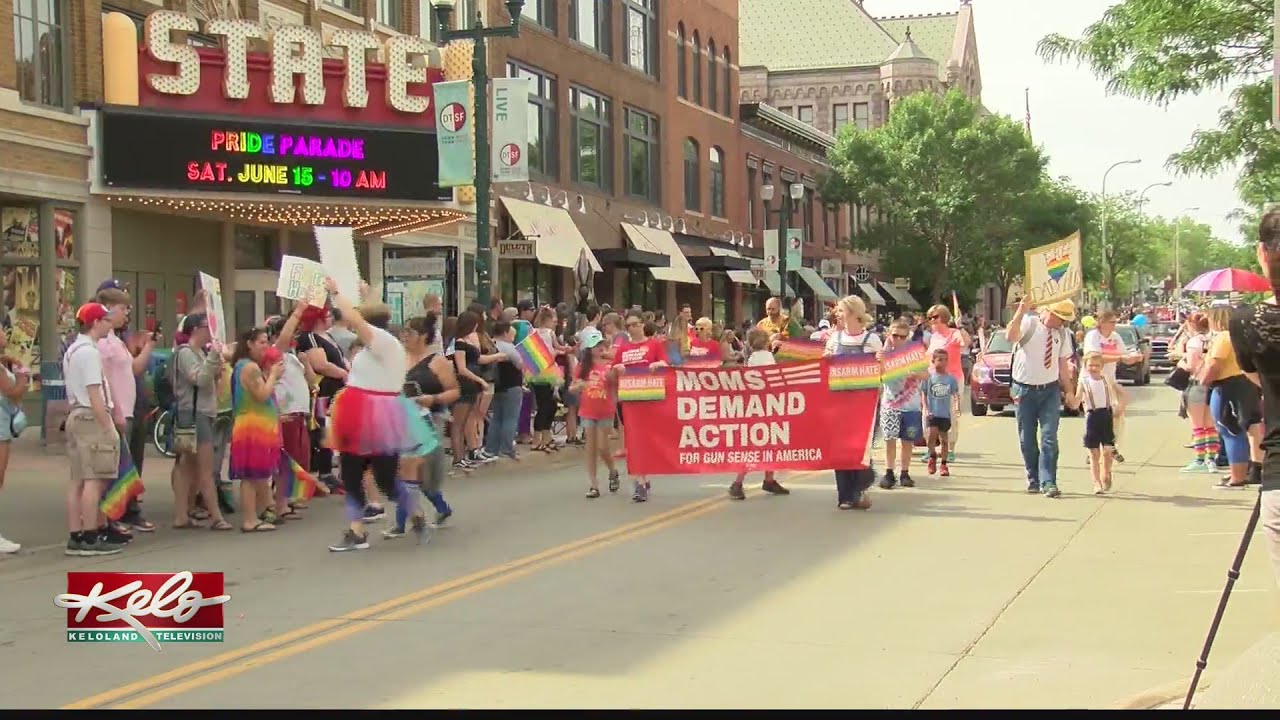
<path fill-rule="evenodd" d="M 67 106 L 64 6 L 60 0 L 14 0 L 13 45 L 18 96 L 27 102 Z"/>

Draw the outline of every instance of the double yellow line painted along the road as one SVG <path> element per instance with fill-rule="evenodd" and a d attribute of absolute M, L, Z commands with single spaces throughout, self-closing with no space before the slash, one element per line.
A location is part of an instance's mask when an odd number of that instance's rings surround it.
<path fill-rule="evenodd" d="M 127 702 L 118 707 L 145 707 L 166 697 L 187 692 L 223 678 L 232 678 L 250 669 L 289 657 L 305 650 L 328 644 L 358 632 L 378 626 L 376 620 L 394 620 L 445 605 L 461 597 L 489 589 L 517 578 L 526 577 L 554 564 L 581 557 L 596 550 L 631 539 L 649 532 L 666 528 L 680 521 L 709 512 L 726 502 L 726 496 L 717 496 L 680 505 L 658 515 L 620 525 L 595 536 L 559 544 L 511 562 L 494 565 L 484 570 L 431 585 L 412 593 L 390 598 L 376 605 L 357 610 L 342 618 L 323 620 L 269 639 L 252 643 L 239 650 L 219 653 L 175 667 L 166 673 L 152 675 L 110 691 L 63 706 L 64 710 L 86 710 Z M 236 664 L 229 666 L 230 664 Z M 168 685 L 168 687 L 165 687 Z M 157 689 L 160 688 L 160 689 Z M 155 692 L 152 692 L 155 691 Z"/>

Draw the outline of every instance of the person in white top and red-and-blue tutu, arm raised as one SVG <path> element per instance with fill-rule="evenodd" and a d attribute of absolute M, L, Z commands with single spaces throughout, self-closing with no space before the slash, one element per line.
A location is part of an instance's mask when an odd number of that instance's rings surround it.
<path fill-rule="evenodd" d="M 378 488 L 411 519 L 419 542 L 426 534 L 426 516 L 419 509 L 419 495 L 399 479 L 401 455 L 426 455 L 439 445 L 435 429 L 403 393 L 408 360 L 399 340 L 387 332 L 390 309 L 365 304 L 356 309 L 352 299 L 338 291 L 333 278 L 325 281 L 334 306 L 356 333 L 364 350 L 351 361 L 347 387 L 333 400 L 329 413 L 329 446 L 340 454 L 340 477 L 347 491 L 347 518 L 351 525 L 332 552 L 369 548 L 365 532 L 365 470 L 372 471 Z M 361 295 L 367 295 L 361 286 Z"/>

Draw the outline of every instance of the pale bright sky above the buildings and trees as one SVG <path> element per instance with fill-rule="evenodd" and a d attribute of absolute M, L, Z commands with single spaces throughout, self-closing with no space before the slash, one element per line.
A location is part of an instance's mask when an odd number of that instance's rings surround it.
<path fill-rule="evenodd" d="M 1217 126 L 1229 91 L 1183 97 L 1169 106 L 1107 95 L 1102 79 L 1074 61 L 1046 63 L 1036 54 L 1042 37 L 1061 32 L 1079 37 L 1102 18 L 1114 0 L 973 0 L 982 67 L 982 101 L 992 111 L 1021 120 L 1030 88 L 1032 137 L 1050 158 L 1050 174 L 1066 176 L 1087 191 L 1101 192 L 1102 176 L 1119 160 L 1107 195 L 1140 192 L 1155 182 L 1172 187 L 1147 192 L 1148 213 L 1185 215 L 1208 224 L 1215 234 L 1242 240 L 1226 215 L 1242 205 L 1235 169 L 1216 177 L 1181 177 L 1166 169 L 1169 156 L 1188 145 L 1197 128 Z M 954 12 L 960 0 L 865 0 L 876 17 Z M 1185 210 L 1199 208 L 1199 210 Z M 1185 210 L 1185 211 L 1184 211 Z"/>

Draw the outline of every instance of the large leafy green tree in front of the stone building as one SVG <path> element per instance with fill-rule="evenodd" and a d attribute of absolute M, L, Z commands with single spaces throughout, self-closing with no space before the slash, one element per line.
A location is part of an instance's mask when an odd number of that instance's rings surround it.
<path fill-rule="evenodd" d="M 950 296 L 954 281 L 991 279 L 986 231 L 1023 205 L 1044 158 L 1018 123 L 959 91 L 899 100 L 882 127 L 840 135 L 823 197 L 878 208 L 888 220 L 855 246 L 896 275 Z"/>

